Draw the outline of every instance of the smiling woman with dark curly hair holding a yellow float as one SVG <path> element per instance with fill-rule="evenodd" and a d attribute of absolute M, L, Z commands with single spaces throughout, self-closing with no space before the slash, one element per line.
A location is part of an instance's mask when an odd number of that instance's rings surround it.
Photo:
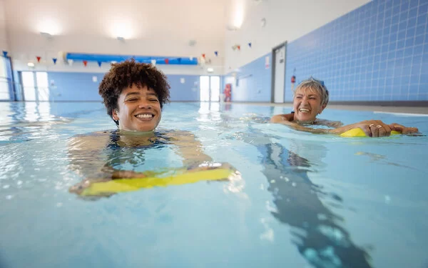
<path fill-rule="evenodd" d="M 112 179 L 153 177 L 153 174 L 159 173 L 156 171 L 158 169 L 167 169 L 168 174 L 174 173 L 173 170 L 182 172 L 183 169 L 186 173 L 207 169 L 230 169 L 231 173 L 235 172 L 228 164 L 211 163 L 212 159 L 203 153 L 200 142 L 192 133 L 156 130 L 162 118 L 163 105 L 169 101 L 169 89 L 165 74 L 151 64 L 137 63 L 133 59 L 112 64 L 111 70 L 101 81 L 99 94 L 107 114 L 118 129 L 97 131 L 70 140 L 71 168 L 85 178 L 71 187 L 70 192 L 86 197 L 110 196 L 112 192 L 88 194 L 85 189 L 93 183 Z M 145 170 L 146 153 L 159 154 L 159 149 L 168 147 L 177 150 L 183 167 L 171 168 L 173 164 L 168 163 L 168 157 L 165 157 L 163 162 L 158 163 L 163 167 L 151 166 L 150 170 Z M 124 170 L 123 164 L 126 167 L 132 164 L 133 168 Z M 168 181 L 161 184 L 165 186 Z"/>

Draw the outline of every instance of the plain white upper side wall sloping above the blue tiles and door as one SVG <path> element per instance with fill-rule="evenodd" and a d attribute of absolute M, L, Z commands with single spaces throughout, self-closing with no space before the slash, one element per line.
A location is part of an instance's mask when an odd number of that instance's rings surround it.
<path fill-rule="evenodd" d="M 244 9 L 243 24 L 225 34 L 225 70 L 248 64 L 284 41 L 293 41 L 370 0 L 231 0 L 228 9 Z M 228 16 L 228 21 L 233 20 Z M 261 26 L 265 18 L 266 24 Z M 252 43 L 252 47 L 248 43 Z M 233 51 L 232 46 L 241 49 Z M 230 67 L 230 68 L 229 68 Z"/>

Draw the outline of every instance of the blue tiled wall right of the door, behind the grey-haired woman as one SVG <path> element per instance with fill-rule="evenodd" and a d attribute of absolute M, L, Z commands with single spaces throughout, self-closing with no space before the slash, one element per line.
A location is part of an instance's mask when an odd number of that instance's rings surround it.
<path fill-rule="evenodd" d="M 374 0 L 287 46 L 290 79 L 325 81 L 331 101 L 428 100 L 428 0 Z"/>

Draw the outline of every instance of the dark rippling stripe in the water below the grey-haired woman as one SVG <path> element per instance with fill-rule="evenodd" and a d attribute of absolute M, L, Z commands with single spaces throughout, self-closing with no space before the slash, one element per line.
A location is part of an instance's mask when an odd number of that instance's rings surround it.
<path fill-rule="evenodd" d="M 267 179 L 267 190 L 272 193 L 275 208 L 272 215 L 284 224 L 293 227 L 292 241 L 302 257 L 315 267 L 371 267 L 370 256 L 358 247 L 347 230 L 340 225 L 343 220 L 332 212 L 320 198 L 342 202 L 337 194 L 327 194 L 308 177 L 308 172 L 322 168 L 322 144 L 311 146 L 312 161 L 291 152 L 280 143 L 272 142 L 280 137 L 267 136 L 260 131 L 250 129 L 236 134 L 257 147 L 261 154 L 260 163 Z M 305 144 L 292 141 L 297 151 Z M 316 165 L 312 163 L 317 163 Z"/>

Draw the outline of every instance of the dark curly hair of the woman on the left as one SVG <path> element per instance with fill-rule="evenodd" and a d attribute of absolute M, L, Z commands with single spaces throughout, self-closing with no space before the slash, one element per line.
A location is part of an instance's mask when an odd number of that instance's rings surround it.
<path fill-rule="evenodd" d="M 113 110 L 118 109 L 119 95 L 130 86 L 147 86 L 158 95 L 161 109 L 163 104 L 170 101 L 170 85 L 162 71 L 152 64 L 141 64 L 134 59 L 128 59 L 118 64 L 111 64 L 111 69 L 104 76 L 98 88 L 98 94 L 103 97 L 107 114 L 113 119 Z M 114 119 L 113 119 L 114 121 Z M 118 121 L 115 121 L 118 124 Z"/>

